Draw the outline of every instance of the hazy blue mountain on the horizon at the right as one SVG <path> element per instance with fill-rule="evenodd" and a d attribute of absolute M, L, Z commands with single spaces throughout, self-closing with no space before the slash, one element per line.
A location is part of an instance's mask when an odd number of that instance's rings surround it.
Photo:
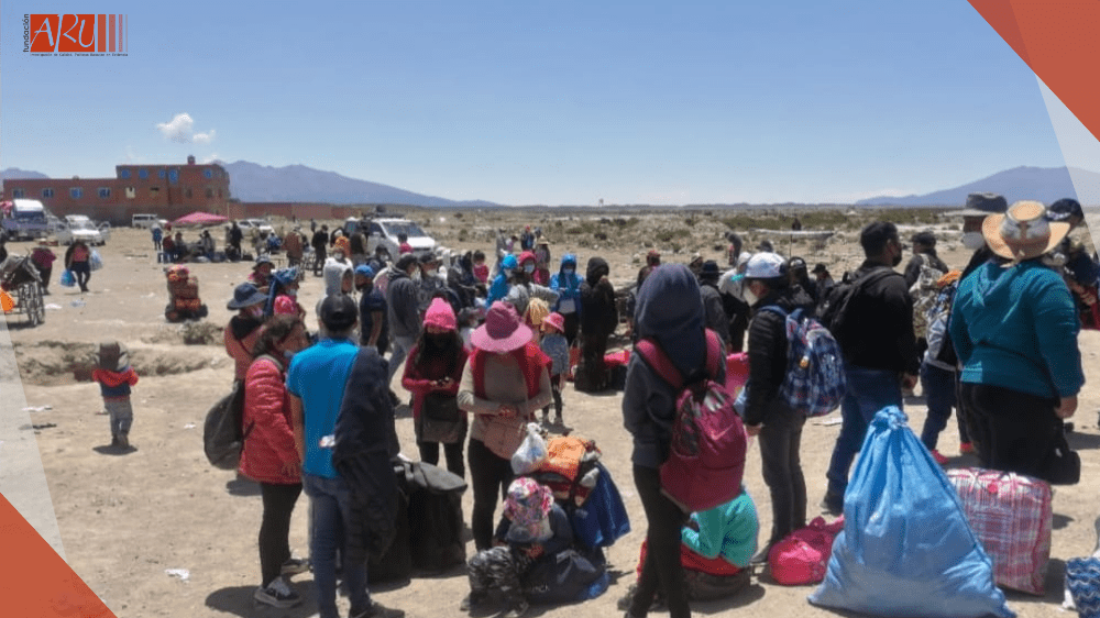
<path fill-rule="evenodd" d="M 923 196 L 882 196 L 860 200 L 857 206 L 957 206 L 966 203 L 966 197 L 975 192 L 992 192 L 1004 196 L 1012 203 L 1021 199 L 1034 199 L 1050 203 L 1062 198 L 1077 198 L 1070 174 L 1082 186 L 1100 186 L 1100 174 L 1086 169 L 1067 167 L 1013 167 L 975 180 L 953 189 L 944 189 Z"/>

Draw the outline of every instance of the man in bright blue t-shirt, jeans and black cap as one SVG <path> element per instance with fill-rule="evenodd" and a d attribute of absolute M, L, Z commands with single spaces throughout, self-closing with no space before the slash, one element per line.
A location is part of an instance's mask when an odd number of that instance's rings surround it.
<path fill-rule="evenodd" d="M 337 553 L 346 556 L 344 529 L 352 525 L 352 490 L 332 464 L 337 419 L 359 347 L 351 341 L 358 322 L 355 302 L 346 296 L 326 298 L 320 307 L 320 341 L 295 354 L 287 369 L 290 419 L 301 463 L 301 482 L 309 496 L 309 558 L 321 618 L 337 611 Z M 381 362 L 381 361 L 380 361 Z M 366 388 L 367 385 L 352 385 Z M 392 472 L 391 472 L 392 474 Z M 366 563 L 345 560 L 343 584 L 351 618 L 400 618 L 404 611 L 372 603 L 366 589 Z"/>

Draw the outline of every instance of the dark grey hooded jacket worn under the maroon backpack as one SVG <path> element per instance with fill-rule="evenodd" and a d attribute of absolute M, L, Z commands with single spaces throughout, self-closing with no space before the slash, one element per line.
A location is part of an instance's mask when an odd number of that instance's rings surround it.
<path fill-rule="evenodd" d="M 635 328 L 652 339 L 682 375 L 696 375 L 706 364 L 703 300 L 698 283 L 682 264 L 653 271 L 638 291 Z M 718 382 L 725 382 L 725 364 Z M 623 426 L 634 437 L 635 465 L 660 467 L 669 456 L 680 393 L 664 382 L 640 354 L 631 354 L 623 391 Z"/>

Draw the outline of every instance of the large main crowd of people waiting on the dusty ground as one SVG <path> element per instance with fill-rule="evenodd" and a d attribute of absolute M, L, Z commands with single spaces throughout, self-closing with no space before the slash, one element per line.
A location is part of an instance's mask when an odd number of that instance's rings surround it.
<path fill-rule="evenodd" d="M 1023 201 L 1010 208 L 999 196 L 971 196 L 958 214 L 975 255 L 960 271 L 936 255 L 935 234 L 921 232 L 910 239 L 912 256 L 898 272 L 906 251 L 897 227 L 870 223 L 860 233 L 865 262 L 840 283 L 824 263 L 811 271 L 805 260 L 770 246 L 745 252 L 736 235 L 727 268 L 702 258 L 666 264 L 652 251 L 637 284 L 618 291 L 598 256 L 581 276 L 578 257 L 565 253 L 551 274 L 549 242 L 539 230 L 518 238 L 502 233 L 492 271 L 480 251 L 409 252 L 391 262 L 356 251 L 362 247 L 346 238 L 329 238 L 315 246 L 327 256 L 320 269 L 324 295 L 314 320 L 296 298 L 300 262 L 276 269 L 261 255 L 228 304 L 238 313 L 224 330 L 249 432 L 240 472 L 260 482 L 263 495 L 255 598 L 276 607 L 301 600 L 286 576 L 301 572 L 305 561 L 292 555 L 287 531 L 305 492 L 320 616 L 338 615 L 338 572 L 352 616 L 403 615 L 371 599 L 365 561 L 348 559 L 362 552 L 348 548 L 350 537 L 341 532 L 363 519 L 353 511 L 362 490 L 355 485 L 385 485 L 381 478 L 393 475 L 395 408 L 404 401 L 391 384 L 400 375 L 411 394 L 420 459 L 437 464 L 442 450 L 448 471 L 470 475 L 477 554 L 463 608 L 482 605 L 495 587 L 508 604 L 506 616 L 524 615 L 517 577 L 547 548 L 568 544 L 569 534 L 552 505 L 542 504 L 543 488 L 517 479 L 512 455 L 539 412 L 544 427 L 563 427 L 566 374 L 578 390 L 610 387 L 605 355 L 622 301 L 629 336 L 656 342 L 682 375 L 703 369 L 706 329 L 718 335 L 725 354 L 747 353 L 743 420 L 760 444 L 772 511 L 758 545 L 757 514 L 744 490 L 700 514 L 684 512 L 662 494 L 658 470 L 669 455 L 676 388 L 631 355 L 623 419 L 634 441 L 634 483 L 648 530 L 637 585 L 620 603 L 628 617 L 659 606 L 673 618 L 690 616 L 700 573 L 743 581 L 751 563 L 766 562 L 776 543 L 806 526 L 800 461 L 806 419 L 779 396 L 789 366 L 785 316 L 823 313 L 844 286 L 855 289 L 848 327 L 833 334 L 844 353 L 847 393 L 828 470 L 821 471 L 828 479 L 823 510 L 843 511 L 849 467 L 868 423 L 887 406 L 903 408 L 905 390 L 919 383 L 928 408 L 921 438 L 938 461 L 945 461 L 938 434 L 954 409 L 960 450 L 975 452 L 983 467 L 1047 478 L 1050 451 L 1064 443 L 1064 421 L 1084 384 L 1077 333 L 1089 310 L 1067 283 L 1077 280 L 1069 262 L 1052 257 L 1071 253 L 1065 239 L 1081 220 L 1079 206 L 1059 205 Z M 1086 284 L 1079 287 L 1094 294 L 1094 277 Z M 375 431 L 360 431 L 358 450 L 349 453 L 345 444 L 341 453 L 340 423 L 349 415 Z M 359 466 L 354 478 L 341 474 L 349 460 Z M 494 527 L 502 498 L 506 521 Z M 519 522 L 538 543 L 528 539 L 521 550 L 508 550 Z M 738 531 L 736 542 L 723 541 L 724 530 Z M 371 551 L 370 530 L 354 538 L 360 550 Z"/>

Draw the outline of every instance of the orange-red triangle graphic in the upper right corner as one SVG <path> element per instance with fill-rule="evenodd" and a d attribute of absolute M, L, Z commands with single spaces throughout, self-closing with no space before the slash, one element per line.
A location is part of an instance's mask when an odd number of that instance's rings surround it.
<path fill-rule="evenodd" d="M 969 0 L 1094 137 L 1100 139 L 1100 2 Z"/>

